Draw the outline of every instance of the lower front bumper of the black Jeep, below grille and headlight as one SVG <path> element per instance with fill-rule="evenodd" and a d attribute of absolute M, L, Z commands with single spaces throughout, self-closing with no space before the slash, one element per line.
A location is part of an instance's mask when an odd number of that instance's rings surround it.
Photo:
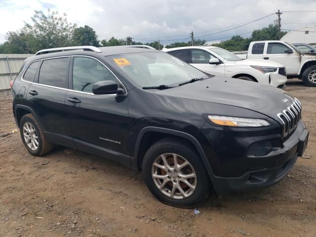
<path fill-rule="evenodd" d="M 244 166 L 249 168 L 242 175 L 219 177 L 214 174 L 211 180 L 215 191 L 217 194 L 223 195 L 235 191 L 262 189 L 276 184 L 290 171 L 297 157 L 303 155 L 307 146 L 308 135 L 308 130 L 301 120 L 295 132 L 282 143 L 280 148 L 274 149 L 266 156 L 241 159 L 244 163 L 239 164 L 240 166 L 236 166 L 235 169 L 240 170 Z M 266 168 L 264 168 L 265 162 Z M 256 163 L 256 166 L 260 168 L 253 169 L 254 166 L 251 166 L 251 163 Z M 212 166 L 211 162 L 210 164 Z M 232 166 L 230 168 L 234 169 Z"/>

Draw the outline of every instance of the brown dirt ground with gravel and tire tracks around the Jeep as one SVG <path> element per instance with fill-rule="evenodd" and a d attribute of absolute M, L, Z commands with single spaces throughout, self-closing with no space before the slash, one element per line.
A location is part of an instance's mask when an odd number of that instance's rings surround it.
<path fill-rule="evenodd" d="M 117 162 L 57 147 L 31 156 L 0 93 L 0 236 L 316 237 L 316 88 L 285 89 L 303 104 L 304 158 L 274 187 L 211 194 L 197 209 L 160 203 L 141 174 Z"/>

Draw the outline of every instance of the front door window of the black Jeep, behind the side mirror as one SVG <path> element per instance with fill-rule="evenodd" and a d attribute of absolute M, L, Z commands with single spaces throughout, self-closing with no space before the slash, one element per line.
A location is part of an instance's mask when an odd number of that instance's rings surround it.
<path fill-rule="evenodd" d="M 92 93 L 94 83 L 102 80 L 118 82 L 100 62 L 87 57 L 74 57 L 73 89 Z"/>

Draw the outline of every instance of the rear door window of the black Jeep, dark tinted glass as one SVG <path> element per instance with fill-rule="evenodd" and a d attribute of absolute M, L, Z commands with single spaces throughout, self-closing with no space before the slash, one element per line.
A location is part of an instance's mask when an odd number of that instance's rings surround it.
<path fill-rule="evenodd" d="M 68 88 L 68 62 L 69 58 L 44 60 L 40 66 L 39 83 Z"/>

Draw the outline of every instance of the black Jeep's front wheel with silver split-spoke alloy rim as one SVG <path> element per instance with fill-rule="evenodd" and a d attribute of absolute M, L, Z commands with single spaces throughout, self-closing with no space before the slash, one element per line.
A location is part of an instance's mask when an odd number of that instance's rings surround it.
<path fill-rule="evenodd" d="M 210 180 L 197 152 L 174 138 L 162 139 L 148 149 L 142 173 L 151 193 L 167 205 L 194 207 L 210 191 Z"/>

